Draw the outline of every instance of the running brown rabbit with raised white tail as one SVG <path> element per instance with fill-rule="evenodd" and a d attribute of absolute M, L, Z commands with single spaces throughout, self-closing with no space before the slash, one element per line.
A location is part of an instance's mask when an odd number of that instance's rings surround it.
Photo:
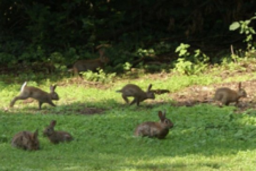
<path fill-rule="evenodd" d="M 10 107 L 13 107 L 13 105 L 15 104 L 15 102 L 17 100 L 24 100 L 29 97 L 38 100 L 39 109 L 41 109 L 41 105 L 43 103 L 48 103 L 48 104 L 51 104 L 52 106 L 55 106 L 55 104 L 53 104 L 52 100 L 59 100 L 58 94 L 54 91 L 55 89 L 56 89 L 56 85 L 54 85 L 54 86 L 51 85 L 50 86 L 51 92 L 47 93 L 47 92 L 45 92 L 41 89 L 38 89 L 36 87 L 27 86 L 27 82 L 24 82 L 24 84 L 21 88 L 20 95 L 14 97 L 14 99 L 10 103 Z"/>

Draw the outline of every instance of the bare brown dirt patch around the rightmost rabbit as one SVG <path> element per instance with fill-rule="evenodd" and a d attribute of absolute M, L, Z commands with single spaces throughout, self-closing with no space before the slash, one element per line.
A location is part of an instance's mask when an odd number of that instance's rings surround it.
<path fill-rule="evenodd" d="M 171 93 L 170 97 L 174 100 L 173 105 L 175 106 L 193 106 L 200 103 L 219 105 L 218 102 L 213 102 L 212 98 L 214 97 L 215 90 L 221 87 L 237 90 L 238 82 L 211 84 L 209 86 L 193 85 L 178 92 Z M 256 109 L 256 80 L 242 82 L 242 88 L 246 90 L 247 97 L 240 98 L 235 111 L 244 112 L 247 109 Z M 235 103 L 229 105 L 235 105 Z"/>

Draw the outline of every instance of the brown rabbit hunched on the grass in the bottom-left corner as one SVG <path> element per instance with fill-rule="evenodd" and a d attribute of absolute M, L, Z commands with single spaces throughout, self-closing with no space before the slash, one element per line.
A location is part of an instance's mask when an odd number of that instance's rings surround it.
<path fill-rule="evenodd" d="M 38 129 L 34 133 L 29 131 L 21 131 L 14 135 L 12 139 L 12 146 L 26 150 L 38 150 Z"/>

